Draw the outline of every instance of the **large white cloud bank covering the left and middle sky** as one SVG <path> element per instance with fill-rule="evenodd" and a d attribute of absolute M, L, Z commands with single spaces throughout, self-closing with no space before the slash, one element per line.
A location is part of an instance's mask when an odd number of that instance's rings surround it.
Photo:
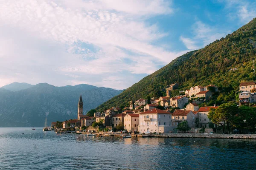
<path fill-rule="evenodd" d="M 145 17 L 171 14 L 170 5 L 165 0 L 1 0 L 0 72 L 7 74 L 0 75 L 0 86 L 88 82 L 127 88 L 133 81 L 115 80 L 151 74 L 180 54 L 151 45 L 167 34 L 144 23 Z M 119 74 L 123 71 L 126 75 Z"/>

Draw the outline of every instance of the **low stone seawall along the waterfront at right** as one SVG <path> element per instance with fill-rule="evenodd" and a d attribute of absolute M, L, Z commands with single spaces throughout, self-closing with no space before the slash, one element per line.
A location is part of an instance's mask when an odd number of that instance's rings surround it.
<path fill-rule="evenodd" d="M 158 138 L 220 138 L 220 139 L 256 139 L 256 134 L 203 134 L 203 133 L 164 133 L 151 135 Z"/>

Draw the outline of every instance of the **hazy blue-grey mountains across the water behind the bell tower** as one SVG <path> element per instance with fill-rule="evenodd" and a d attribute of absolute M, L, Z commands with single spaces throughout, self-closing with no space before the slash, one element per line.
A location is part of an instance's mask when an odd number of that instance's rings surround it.
<path fill-rule="evenodd" d="M 92 85 L 55 87 L 40 83 L 20 91 L 0 88 L 0 127 L 43 127 L 77 118 L 80 94 L 84 114 L 122 91 Z"/>

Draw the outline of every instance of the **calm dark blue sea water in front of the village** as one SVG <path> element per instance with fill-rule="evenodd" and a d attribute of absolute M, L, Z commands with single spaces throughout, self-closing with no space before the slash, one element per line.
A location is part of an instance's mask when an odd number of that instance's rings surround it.
<path fill-rule="evenodd" d="M 252 170 L 256 169 L 256 141 L 96 138 L 59 136 L 42 128 L 0 128 L 0 169 Z"/>

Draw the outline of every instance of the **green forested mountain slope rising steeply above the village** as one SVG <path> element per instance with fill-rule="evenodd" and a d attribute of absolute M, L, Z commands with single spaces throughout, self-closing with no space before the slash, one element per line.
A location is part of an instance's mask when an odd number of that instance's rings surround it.
<path fill-rule="evenodd" d="M 132 99 L 165 95 L 165 88 L 175 82 L 179 88 L 172 96 L 195 85 L 215 84 L 226 94 L 238 91 L 241 81 L 256 80 L 255 58 L 256 18 L 225 38 L 177 57 L 96 109 L 102 111 L 115 105 L 128 105 Z"/>

